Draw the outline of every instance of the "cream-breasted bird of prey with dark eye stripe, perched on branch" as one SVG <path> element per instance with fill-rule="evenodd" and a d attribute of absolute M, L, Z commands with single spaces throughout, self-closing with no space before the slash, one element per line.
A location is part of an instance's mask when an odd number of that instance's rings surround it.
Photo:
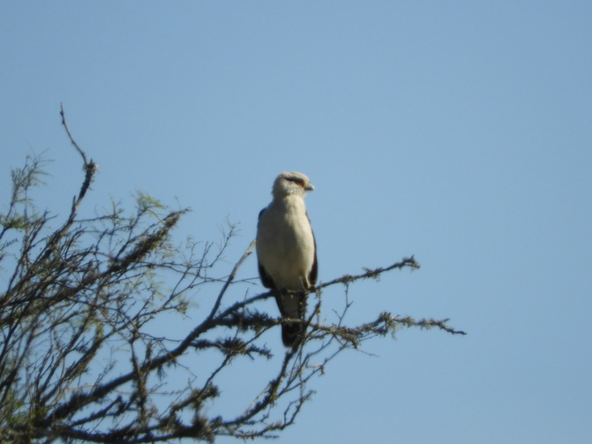
<path fill-rule="evenodd" d="M 272 187 L 273 199 L 260 211 L 257 224 L 259 278 L 275 292 L 285 318 L 282 342 L 286 347 L 294 347 L 304 333 L 307 292 L 317 282 L 317 243 L 304 205 L 304 196 L 313 190 L 303 173 L 281 173 Z"/>

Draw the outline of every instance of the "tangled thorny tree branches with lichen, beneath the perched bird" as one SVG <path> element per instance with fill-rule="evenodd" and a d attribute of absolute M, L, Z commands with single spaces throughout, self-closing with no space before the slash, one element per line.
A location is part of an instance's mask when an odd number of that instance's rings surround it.
<path fill-rule="evenodd" d="M 277 333 L 282 320 L 275 311 L 261 311 L 261 303 L 273 294 L 248 296 L 250 279 L 237 280 L 255 242 L 228 276 L 212 278 L 233 226 L 214 252 L 212 243 L 175 246 L 170 232 L 187 210 L 169 210 L 143 194 L 130 216 L 114 204 L 103 215 L 79 217 L 96 164 L 73 139 L 63 105 L 60 115 L 84 171 L 65 221 L 52 230 L 54 217 L 33 206 L 30 191 L 43 174 L 37 158 L 13 172 L 12 199 L 0 214 L 0 269 L 10 271 L 0 292 L 0 442 L 274 437 L 310 400 L 310 379 L 324 374 L 343 350 L 359 350 L 366 340 L 394 335 L 400 327 L 465 334 L 448 326 L 448 319 L 388 312 L 358 326 L 346 324 L 350 285 L 393 269 L 419 268 L 411 256 L 318 285 L 309 297 L 314 307 L 301 321 L 305 336 L 292 349 L 278 345 L 272 351 L 268 332 Z M 323 291 L 337 284 L 345 285 L 345 306 L 333 309 L 334 321 L 324 313 L 321 322 Z M 215 298 L 208 297 L 213 285 L 219 288 Z M 242 408 L 208 415 L 224 395 L 220 375 L 258 358 L 268 361 L 267 372 L 250 384 L 259 389 Z"/>

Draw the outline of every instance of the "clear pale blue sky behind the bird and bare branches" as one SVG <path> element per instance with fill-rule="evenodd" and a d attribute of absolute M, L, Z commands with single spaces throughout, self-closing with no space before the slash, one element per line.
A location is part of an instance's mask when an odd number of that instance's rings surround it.
<path fill-rule="evenodd" d="M 350 322 L 469 334 L 344 353 L 282 443 L 590 442 L 591 24 L 587 1 L 3 2 L 0 197 L 45 152 L 67 210 L 60 102 L 99 165 L 84 211 L 143 190 L 193 209 L 179 239 L 229 218 L 229 266 L 304 172 L 322 281 L 422 264 L 353 285 Z"/>

